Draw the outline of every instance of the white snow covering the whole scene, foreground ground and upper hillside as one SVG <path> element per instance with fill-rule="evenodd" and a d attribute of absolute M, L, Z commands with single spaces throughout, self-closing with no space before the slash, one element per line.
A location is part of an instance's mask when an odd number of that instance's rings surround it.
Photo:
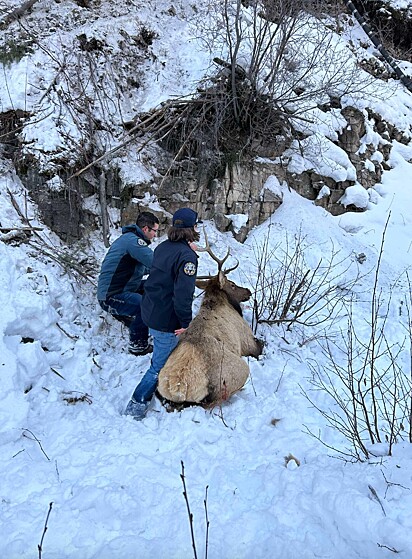
<path fill-rule="evenodd" d="M 120 8 L 103 4 L 106 21 L 97 18 L 93 25 L 110 29 L 109 8 Z M 169 8 L 161 2 L 129 4 L 139 21 L 146 18 L 161 35 L 156 55 L 166 61 L 165 67 L 158 62 L 148 70 L 147 83 L 133 100 L 143 110 L 190 91 L 207 57 L 194 48 L 193 30 L 185 27 L 184 3 L 176 6 L 176 18 L 161 14 Z M 43 0 L 38 9 L 46 5 Z M 52 6 L 62 19 L 68 17 L 65 3 Z M 80 31 L 91 30 L 86 11 L 76 10 L 86 20 Z M 131 25 L 131 16 L 127 20 Z M 32 90 L 26 88 L 36 91 L 42 72 L 44 84 L 53 79 L 36 56 L 5 69 L 9 91 L 0 86 L 2 111 L 28 107 L 26 93 Z M 357 97 L 358 108 L 373 108 L 410 136 L 412 95 L 393 82 L 379 82 L 379 87 L 391 92 L 388 101 L 378 103 L 365 93 Z M 44 120 L 31 128 L 45 150 L 60 141 L 49 124 Z M 343 124 L 337 114 L 319 128 L 315 123 L 299 151 L 289 154 L 289 170 L 310 168 L 335 180 L 356 180 L 347 155 L 332 143 Z M 368 142 L 380 141 L 368 134 Z M 106 249 L 99 232 L 72 249 L 63 247 L 36 218 L 36 207 L 11 164 L 0 159 L 1 227 L 22 226 L 14 201 L 33 226 L 42 228 L 28 242 L 17 237 L 12 242 L 9 233 L 0 233 L 2 557 L 31 558 L 38 555 L 41 541 L 44 559 L 193 556 L 182 464 L 198 557 L 206 556 L 206 541 L 210 559 L 412 556 L 412 446 L 407 436 L 393 445 L 391 456 L 384 441 L 366 442 L 368 458 L 348 459 L 342 452 L 350 443 L 318 411 L 336 405 L 311 382 L 316 365 L 327 369 L 326 337 L 338 343 L 345 332 L 349 301 L 354 328 L 368 340 L 383 238 L 378 285 L 388 305 L 386 335 L 389 344 L 402 348 L 398 361 L 410 379 L 411 298 L 405 271 L 412 265 L 412 148 L 392 145 L 391 168 L 381 183 L 370 192 L 358 184 L 346 190 L 344 202 L 366 211 L 334 217 L 270 177 L 265 188 L 280 193 L 283 202 L 244 244 L 205 221 L 213 250 L 223 256 L 230 246 L 241 263 L 231 278 L 251 289 L 263 246 L 268 247 L 268 269 L 276 270 L 298 244 L 305 270 L 331 262 L 328 281 L 342 292 L 358 274 L 359 279 L 351 284 L 347 306 L 336 305 L 323 324 L 291 329 L 261 324 L 257 335 L 265 339 L 264 354 L 248 359 L 250 379 L 221 407 L 167 413 L 154 400 L 142 422 L 122 412 L 150 356 L 129 355 L 126 330 L 99 308 L 97 269 L 83 266 L 81 276 L 58 261 L 64 253 L 78 263 L 86 257 L 101 262 Z M 379 155 L 371 159 L 379 161 Z M 122 164 L 131 182 L 152 176 L 137 157 L 125 157 Z M 57 179 L 53 184 L 59 187 Z M 149 194 L 145 201 L 159 209 Z M 95 204 L 91 197 L 85 207 Z M 113 239 L 119 235 L 117 210 L 111 216 Z M 229 217 L 240 227 L 246 216 Z M 208 255 L 199 257 L 200 273 L 214 273 Z M 199 305 L 196 297 L 194 312 Z M 251 301 L 244 305 L 244 316 L 252 324 Z"/>

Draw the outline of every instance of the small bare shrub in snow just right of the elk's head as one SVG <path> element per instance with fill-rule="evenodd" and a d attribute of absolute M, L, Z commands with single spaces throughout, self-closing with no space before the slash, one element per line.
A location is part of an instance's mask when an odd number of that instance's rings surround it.
<path fill-rule="evenodd" d="M 292 239 L 286 237 L 285 247 L 279 243 L 270 249 L 269 233 L 255 247 L 255 332 L 259 324 L 286 324 L 288 329 L 293 324 L 329 328 L 333 317 L 343 309 L 360 279 L 359 268 L 354 274 L 347 274 L 356 264 L 333 246 L 329 256 L 311 267 L 305 257 L 309 249 L 301 231 Z"/>

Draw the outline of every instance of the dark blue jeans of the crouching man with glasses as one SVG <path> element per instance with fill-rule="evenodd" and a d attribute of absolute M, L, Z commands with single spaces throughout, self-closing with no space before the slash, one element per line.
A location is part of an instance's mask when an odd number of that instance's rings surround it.
<path fill-rule="evenodd" d="M 147 345 L 149 329 L 142 320 L 142 296 L 139 293 L 124 291 L 99 301 L 102 309 L 111 314 L 129 328 L 130 343 L 141 346 Z"/>

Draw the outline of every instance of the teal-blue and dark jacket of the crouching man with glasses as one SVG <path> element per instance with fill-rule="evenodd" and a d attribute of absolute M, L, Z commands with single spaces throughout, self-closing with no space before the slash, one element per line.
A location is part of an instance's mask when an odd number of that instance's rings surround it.
<path fill-rule="evenodd" d="M 97 285 L 99 301 L 116 293 L 139 290 L 153 261 L 149 244 L 137 225 L 122 227 L 122 235 L 114 241 L 102 263 Z"/>

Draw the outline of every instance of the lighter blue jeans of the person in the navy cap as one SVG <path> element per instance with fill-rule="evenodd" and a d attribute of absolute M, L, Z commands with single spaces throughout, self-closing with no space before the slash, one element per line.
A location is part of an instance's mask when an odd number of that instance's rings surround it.
<path fill-rule="evenodd" d="M 160 369 L 177 345 L 178 337 L 173 332 L 160 332 L 150 328 L 153 336 L 153 355 L 150 367 L 133 392 L 132 399 L 139 403 L 147 403 L 152 399 L 157 386 Z"/>

